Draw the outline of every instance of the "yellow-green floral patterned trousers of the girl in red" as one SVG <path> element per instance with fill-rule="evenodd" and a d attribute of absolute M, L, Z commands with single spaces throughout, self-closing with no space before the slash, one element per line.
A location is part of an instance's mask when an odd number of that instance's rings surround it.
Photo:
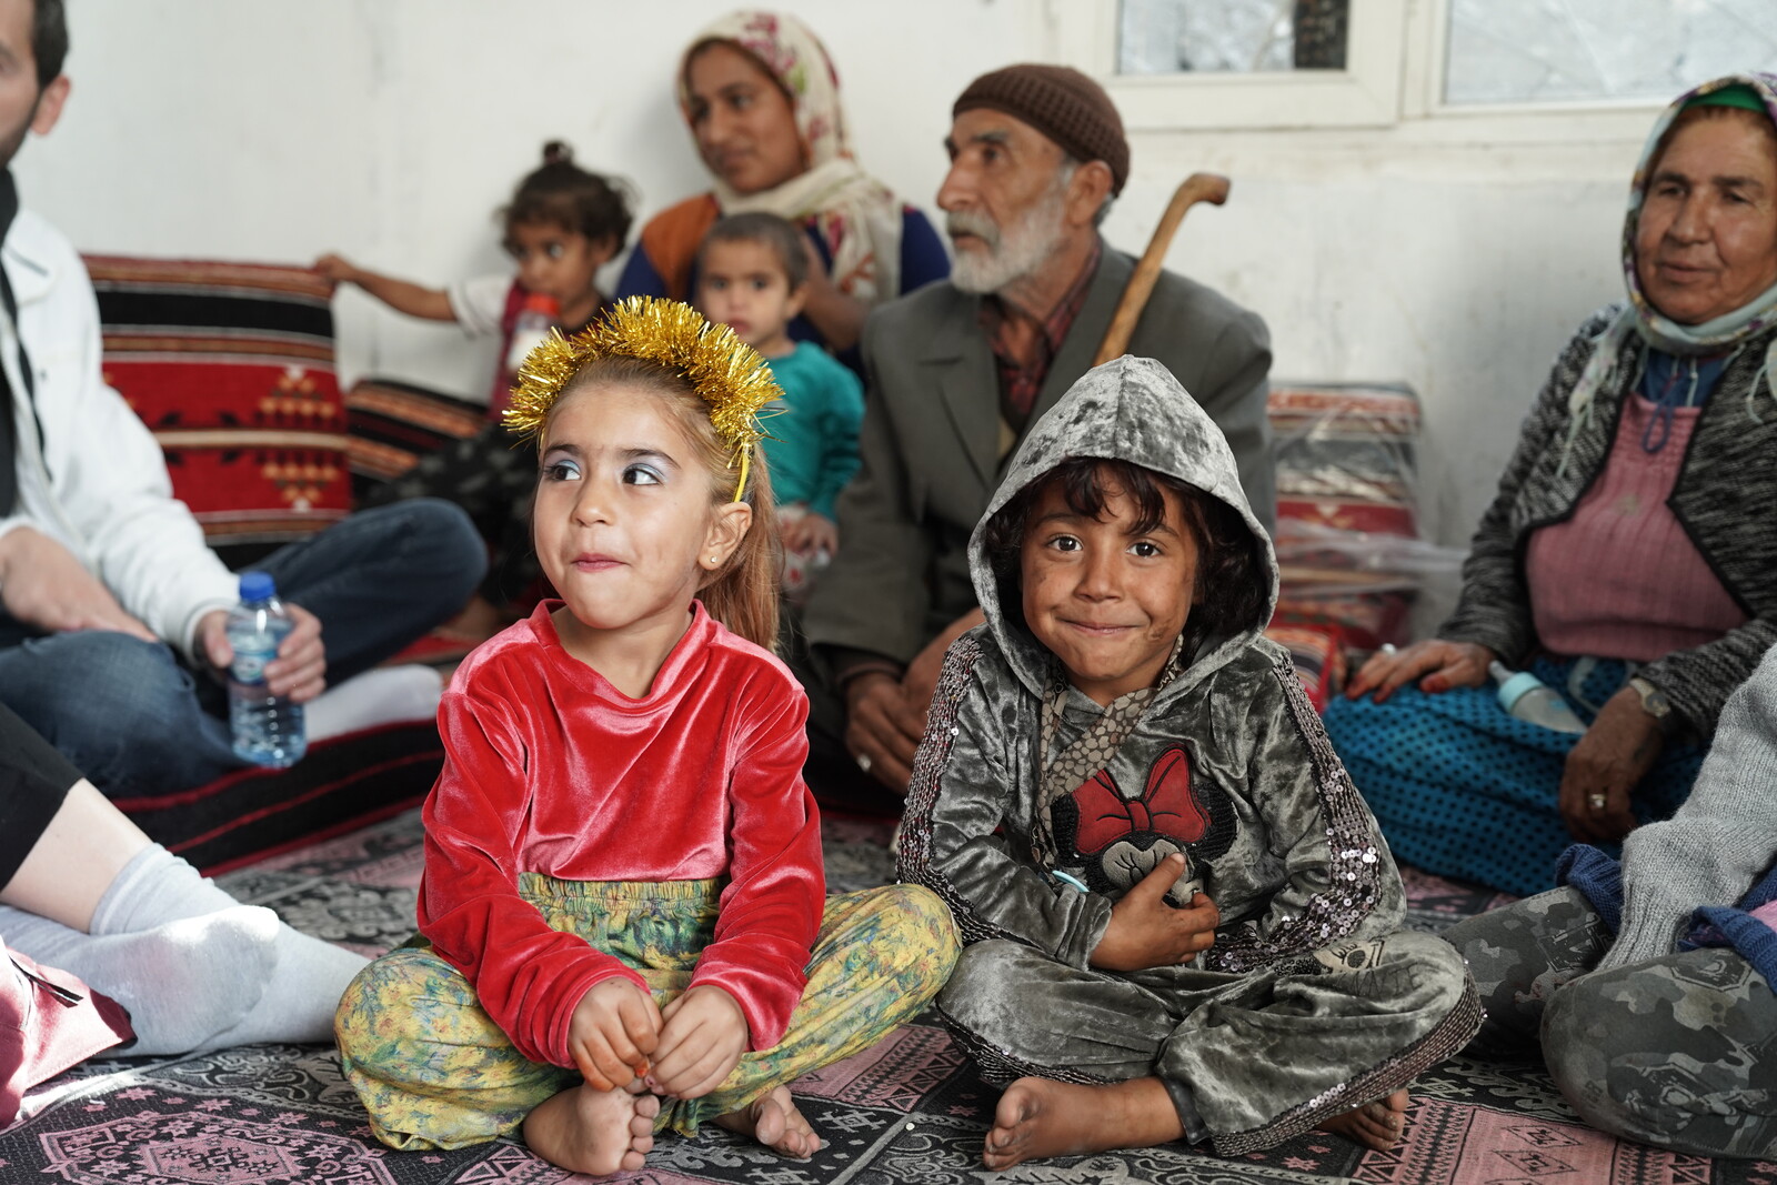
<path fill-rule="evenodd" d="M 535 872 L 519 894 L 553 929 L 579 934 L 649 982 L 665 1006 L 713 942 L 723 881 L 558 881 Z M 956 963 L 951 913 L 933 894 L 890 885 L 826 899 L 809 984 L 784 1039 L 741 1062 L 713 1093 L 661 1100 L 656 1130 L 693 1135 L 705 1119 L 832 1064 L 912 1020 Z M 347 1080 L 370 1126 L 400 1149 L 466 1148 L 510 1135 L 574 1070 L 519 1054 L 462 974 L 425 940 L 366 966 L 334 1022 Z"/>

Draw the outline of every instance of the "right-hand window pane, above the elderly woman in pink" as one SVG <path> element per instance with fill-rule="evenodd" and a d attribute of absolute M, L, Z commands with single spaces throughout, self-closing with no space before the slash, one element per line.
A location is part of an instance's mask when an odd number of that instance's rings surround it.
<path fill-rule="evenodd" d="M 1448 0 L 1448 103 L 1672 98 L 1777 69 L 1772 0 Z"/>

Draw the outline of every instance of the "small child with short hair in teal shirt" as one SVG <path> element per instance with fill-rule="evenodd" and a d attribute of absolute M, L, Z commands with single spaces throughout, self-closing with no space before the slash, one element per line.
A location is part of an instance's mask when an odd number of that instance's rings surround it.
<path fill-rule="evenodd" d="M 839 549 L 833 499 L 858 471 L 864 384 L 812 341 L 791 341 L 809 281 L 809 249 L 791 222 L 769 213 L 721 219 L 704 236 L 697 274 L 704 316 L 764 354 L 784 387 L 784 405 L 761 419 L 784 533 L 784 592 L 796 602 Z"/>

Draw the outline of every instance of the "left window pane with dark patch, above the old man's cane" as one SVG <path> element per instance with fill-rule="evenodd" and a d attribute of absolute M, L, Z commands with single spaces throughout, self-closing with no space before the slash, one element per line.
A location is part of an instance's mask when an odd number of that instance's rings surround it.
<path fill-rule="evenodd" d="M 1345 69 L 1351 0 L 1121 0 L 1120 75 Z"/>

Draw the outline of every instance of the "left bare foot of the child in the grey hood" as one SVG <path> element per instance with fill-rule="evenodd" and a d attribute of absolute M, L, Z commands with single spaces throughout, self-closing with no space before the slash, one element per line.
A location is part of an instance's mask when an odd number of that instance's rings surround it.
<path fill-rule="evenodd" d="M 1018 1078 L 1000 1094 L 981 1149 L 990 1169 L 1109 1148 L 1151 1148 L 1185 1133 L 1159 1078 L 1073 1086 Z"/>

